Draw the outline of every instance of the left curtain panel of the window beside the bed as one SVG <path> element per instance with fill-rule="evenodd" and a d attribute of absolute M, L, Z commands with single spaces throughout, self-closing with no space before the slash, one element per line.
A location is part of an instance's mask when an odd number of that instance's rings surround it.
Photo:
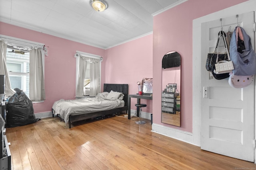
<path fill-rule="evenodd" d="M 82 97 L 84 92 L 84 79 L 87 68 L 87 62 L 90 58 L 79 56 L 78 83 L 76 87 L 76 97 Z"/>

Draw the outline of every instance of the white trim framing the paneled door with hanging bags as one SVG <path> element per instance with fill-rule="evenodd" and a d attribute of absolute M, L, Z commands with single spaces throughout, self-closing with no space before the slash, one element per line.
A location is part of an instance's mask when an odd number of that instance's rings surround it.
<path fill-rule="evenodd" d="M 201 24 L 207 21 L 212 21 L 212 20 L 218 20 L 220 18 L 226 18 L 230 16 L 236 17 L 238 14 L 243 14 L 247 12 L 252 12 L 254 11 L 254 15 L 256 12 L 256 1 L 249 0 L 246 2 L 243 2 L 241 4 L 232 6 L 230 8 L 226 8 L 224 10 L 220 10 L 218 12 L 214 12 L 212 14 L 208 14 L 206 16 L 197 18 L 193 20 L 193 51 L 192 51 L 192 56 L 193 56 L 193 75 L 201 75 Z M 254 16 L 255 18 L 255 16 Z M 206 57 L 206 56 L 202 56 Z M 201 76 L 193 76 L 193 109 L 192 109 L 192 134 L 193 134 L 193 143 L 195 145 L 201 146 L 201 102 L 202 102 L 202 94 L 201 94 Z M 254 92 L 256 88 L 254 87 Z M 255 116 L 254 116 L 255 117 Z M 256 122 L 256 119 L 254 120 Z M 254 123 L 255 124 L 255 123 Z M 254 126 L 255 127 L 255 126 Z M 256 127 L 254 129 L 254 133 L 256 132 Z M 255 155 L 255 152 L 254 152 Z M 254 156 L 254 162 L 255 162 L 255 157 Z"/>

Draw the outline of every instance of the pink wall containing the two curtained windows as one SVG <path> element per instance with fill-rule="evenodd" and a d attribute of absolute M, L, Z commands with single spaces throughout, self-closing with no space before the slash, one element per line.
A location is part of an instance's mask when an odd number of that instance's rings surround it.
<path fill-rule="evenodd" d="M 35 113 L 52 110 L 52 104 L 59 99 L 74 99 L 76 91 L 76 51 L 82 51 L 105 58 L 105 50 L 76 43 L 52 35 L 32 31 L 0 22 L 0 34 L 44 43 L 48 47 L 45 57 L 45 93 L 44 103 L 33 104 Z M 102 84 L 104 83 L 105 63 L 102 63 Z M 103 86 L 102 86 L 103 87 Z"/>

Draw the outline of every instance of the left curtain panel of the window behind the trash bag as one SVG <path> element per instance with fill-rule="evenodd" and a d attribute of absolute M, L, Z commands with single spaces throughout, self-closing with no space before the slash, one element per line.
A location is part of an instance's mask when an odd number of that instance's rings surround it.
<path fill-rule="evenodd" d="M 4 41 L 0 41 L 0 74 L 5 75 L 5 93 L 6 96 L 12 96 L 14 94 L 14 91 L 11 88 L 11 83 L 6 67 L 6 49 L 7 45 L 4 43 Z"/>

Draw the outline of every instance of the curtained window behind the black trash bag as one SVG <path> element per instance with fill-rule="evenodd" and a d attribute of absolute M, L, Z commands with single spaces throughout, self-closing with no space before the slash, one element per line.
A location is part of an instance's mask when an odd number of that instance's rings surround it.
<path fill-rule="evenodd" d="M 0 65 L 4 68 L 0 74 L 6 75 L 8 95 L 19 88 L 32 102 L 45 100 L 44 57 L 48 54 L 44 44 L 6 35 L 0 35 L 0 42 Z"/>

